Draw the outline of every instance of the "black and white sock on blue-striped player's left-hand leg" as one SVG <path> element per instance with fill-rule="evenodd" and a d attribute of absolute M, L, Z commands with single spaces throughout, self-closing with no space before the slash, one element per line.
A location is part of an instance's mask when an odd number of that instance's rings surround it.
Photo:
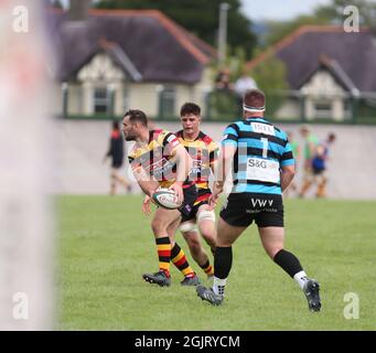
<path fill-rule="evenodd" d="M 216 295 L 225 295 L 225 286 L 233 266 L 233 248 L 216 247 L 214 256 L 214 284 L 213 291 Z"/>

